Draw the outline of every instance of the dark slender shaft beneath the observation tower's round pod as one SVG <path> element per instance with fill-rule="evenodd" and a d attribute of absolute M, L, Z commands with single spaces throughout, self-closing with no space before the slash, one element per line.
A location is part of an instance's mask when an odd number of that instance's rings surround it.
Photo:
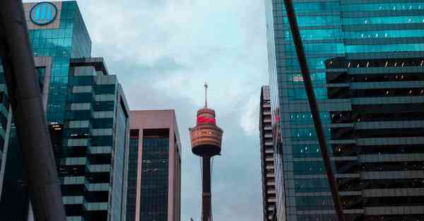
<path fill-rule="evenodd" d="M 211 219 L 211 156 L 202 157 L 202 193 L 201 193 L 201 221 Z"/>

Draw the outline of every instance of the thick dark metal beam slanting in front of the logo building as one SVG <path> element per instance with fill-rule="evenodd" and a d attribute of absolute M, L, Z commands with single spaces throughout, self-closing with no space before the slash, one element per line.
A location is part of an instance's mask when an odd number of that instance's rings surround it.
<path fill-rule="evenodd" d="M 0 1 L 0 53 L 35 221 L 65 221 L 52 143 L 20 0 Z"/>

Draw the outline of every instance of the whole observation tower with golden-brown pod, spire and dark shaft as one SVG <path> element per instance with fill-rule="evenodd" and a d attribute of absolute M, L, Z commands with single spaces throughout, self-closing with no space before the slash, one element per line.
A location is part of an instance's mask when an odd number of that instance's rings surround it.
<path fill-rule="evenodd" d="M 205 83 L 205 107 L 197 111 L 196 126 L 189 129 L 192 152 L 202 158 L 201 221 L 212 221 L 211 157 L 220 155 L 223 130 L 216 126 L 216 115 L 208 108 L 208 85 Z"/>

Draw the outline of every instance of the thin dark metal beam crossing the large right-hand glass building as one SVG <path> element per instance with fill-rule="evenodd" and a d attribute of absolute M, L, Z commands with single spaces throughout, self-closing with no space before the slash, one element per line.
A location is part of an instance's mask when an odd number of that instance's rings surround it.
<path fill-rule="evenodd" d="M 319 147 L 321 148 L 322 160 L 324 160 L 326 176 L 329 180 L 331 196 L 333 196 L 334 208 L 336 209 L 338 221 L 344 221 L 343 205 L 341 204 L 340 196 L 338 196 L 337 181 L 334 177 L 333 169 L 331 169 L 329 150 L 325 141 L 324 129 L 322 129 L 321 118 L 319 117 L 317 99 L 314 95 L 314 88 L 312 86 L 310 71 L 307 66 L 302 38 L 300 37 L 300 31 L 298 26 L 298 20 L 296 19 L 295 9 L 293 8 L 293 2 L 291 0 L 284 0 L 284 4 L 285 11 L 287 12 L 288 22 L 290 23 L 290 30 L 293 35 L 293 41 L 295 43 L 296 54 L 298 54 L 300 70 L 302 71 L 303 83 L 305 84 L 305 90 L 307 93 L 307 100 L 309 101 L 311 114 L 314 119 L 315 131 L 317 131 L 317 137 Z"/>

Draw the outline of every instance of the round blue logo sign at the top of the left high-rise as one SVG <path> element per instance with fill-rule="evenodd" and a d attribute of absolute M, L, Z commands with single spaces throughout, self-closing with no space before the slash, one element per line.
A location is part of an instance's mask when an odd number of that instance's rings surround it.
<path fill-rule="evenodd" d="M 30 18 L 36 25 L 47 25 L 52 23 L 57 16 L 57 8 L 50 2 L 40 2 L 30 11 Z"/>

